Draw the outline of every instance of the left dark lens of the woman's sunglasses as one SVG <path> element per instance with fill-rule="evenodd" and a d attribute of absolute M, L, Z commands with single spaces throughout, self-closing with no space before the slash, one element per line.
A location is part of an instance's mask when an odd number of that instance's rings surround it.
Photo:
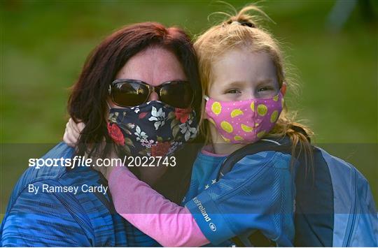
<path fill-rule="evenodd" d="M 148 93 L 148 87 L 138 82 L 119 82 L 111 90 L 114 103 L 123 107 L 134 107 L 144 103 Z"/>

